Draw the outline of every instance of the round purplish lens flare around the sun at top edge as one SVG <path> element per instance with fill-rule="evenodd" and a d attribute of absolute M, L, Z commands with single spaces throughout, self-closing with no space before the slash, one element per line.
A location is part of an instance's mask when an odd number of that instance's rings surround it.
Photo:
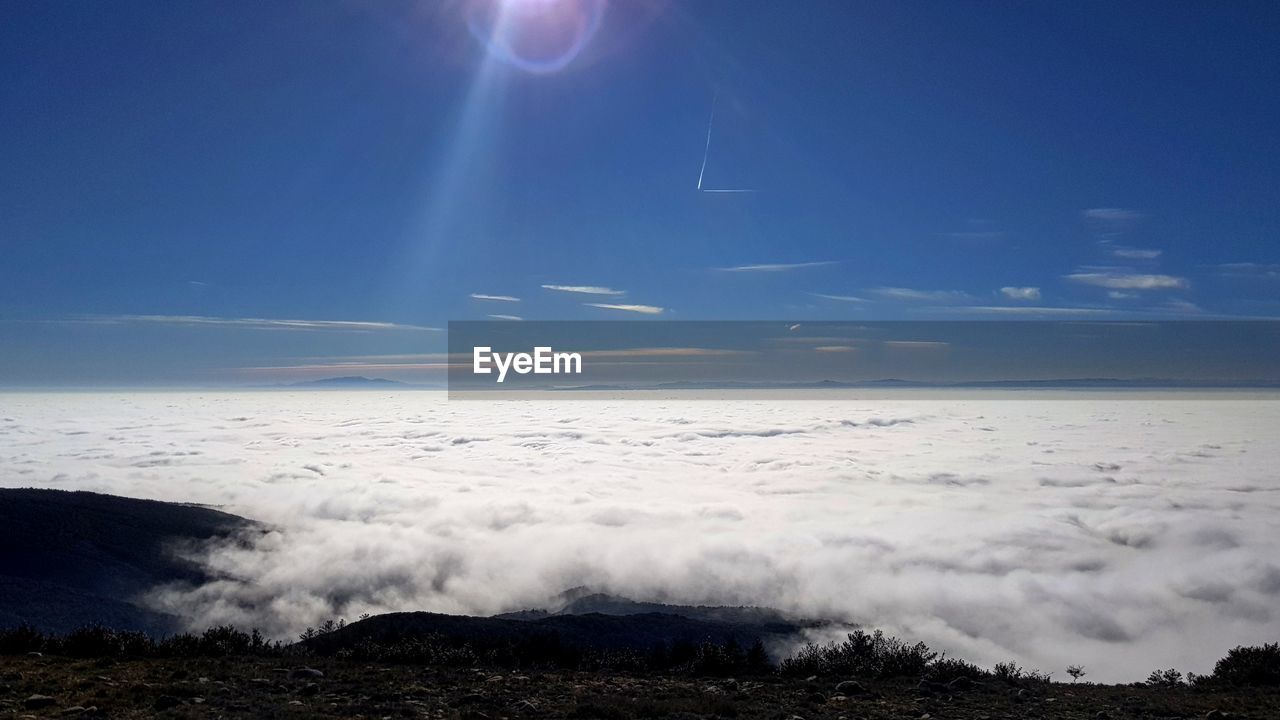
<path fill-rule="evenodd" d="M 499 60 L 534 74 L 559 72 L 590 44 L 608 0 L 472 3 L 467 27 Z"/>

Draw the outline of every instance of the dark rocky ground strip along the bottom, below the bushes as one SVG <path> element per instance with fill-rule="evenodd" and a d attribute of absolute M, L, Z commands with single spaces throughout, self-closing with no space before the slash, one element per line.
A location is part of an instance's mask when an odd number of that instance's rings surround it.
<path fill-rule="evenodd" d="M 963 683 L 961 683 L 963 684 Z M 270 659 L 0 657 L 6 717 L 1280 717 L 1280 691 L 500 673 Z"/>

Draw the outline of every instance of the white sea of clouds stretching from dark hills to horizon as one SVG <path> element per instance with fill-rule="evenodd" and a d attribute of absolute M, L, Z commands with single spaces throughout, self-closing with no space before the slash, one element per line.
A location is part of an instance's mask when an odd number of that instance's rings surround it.
<path fill-rule="evenodd" d="M 0 395 L 0 486 L 273 528 L 150 601 L 289 637 L 588 585 L 864 623 L 982 665 L 1204 671 L 1280 639 L 1280 398 Z"/>

